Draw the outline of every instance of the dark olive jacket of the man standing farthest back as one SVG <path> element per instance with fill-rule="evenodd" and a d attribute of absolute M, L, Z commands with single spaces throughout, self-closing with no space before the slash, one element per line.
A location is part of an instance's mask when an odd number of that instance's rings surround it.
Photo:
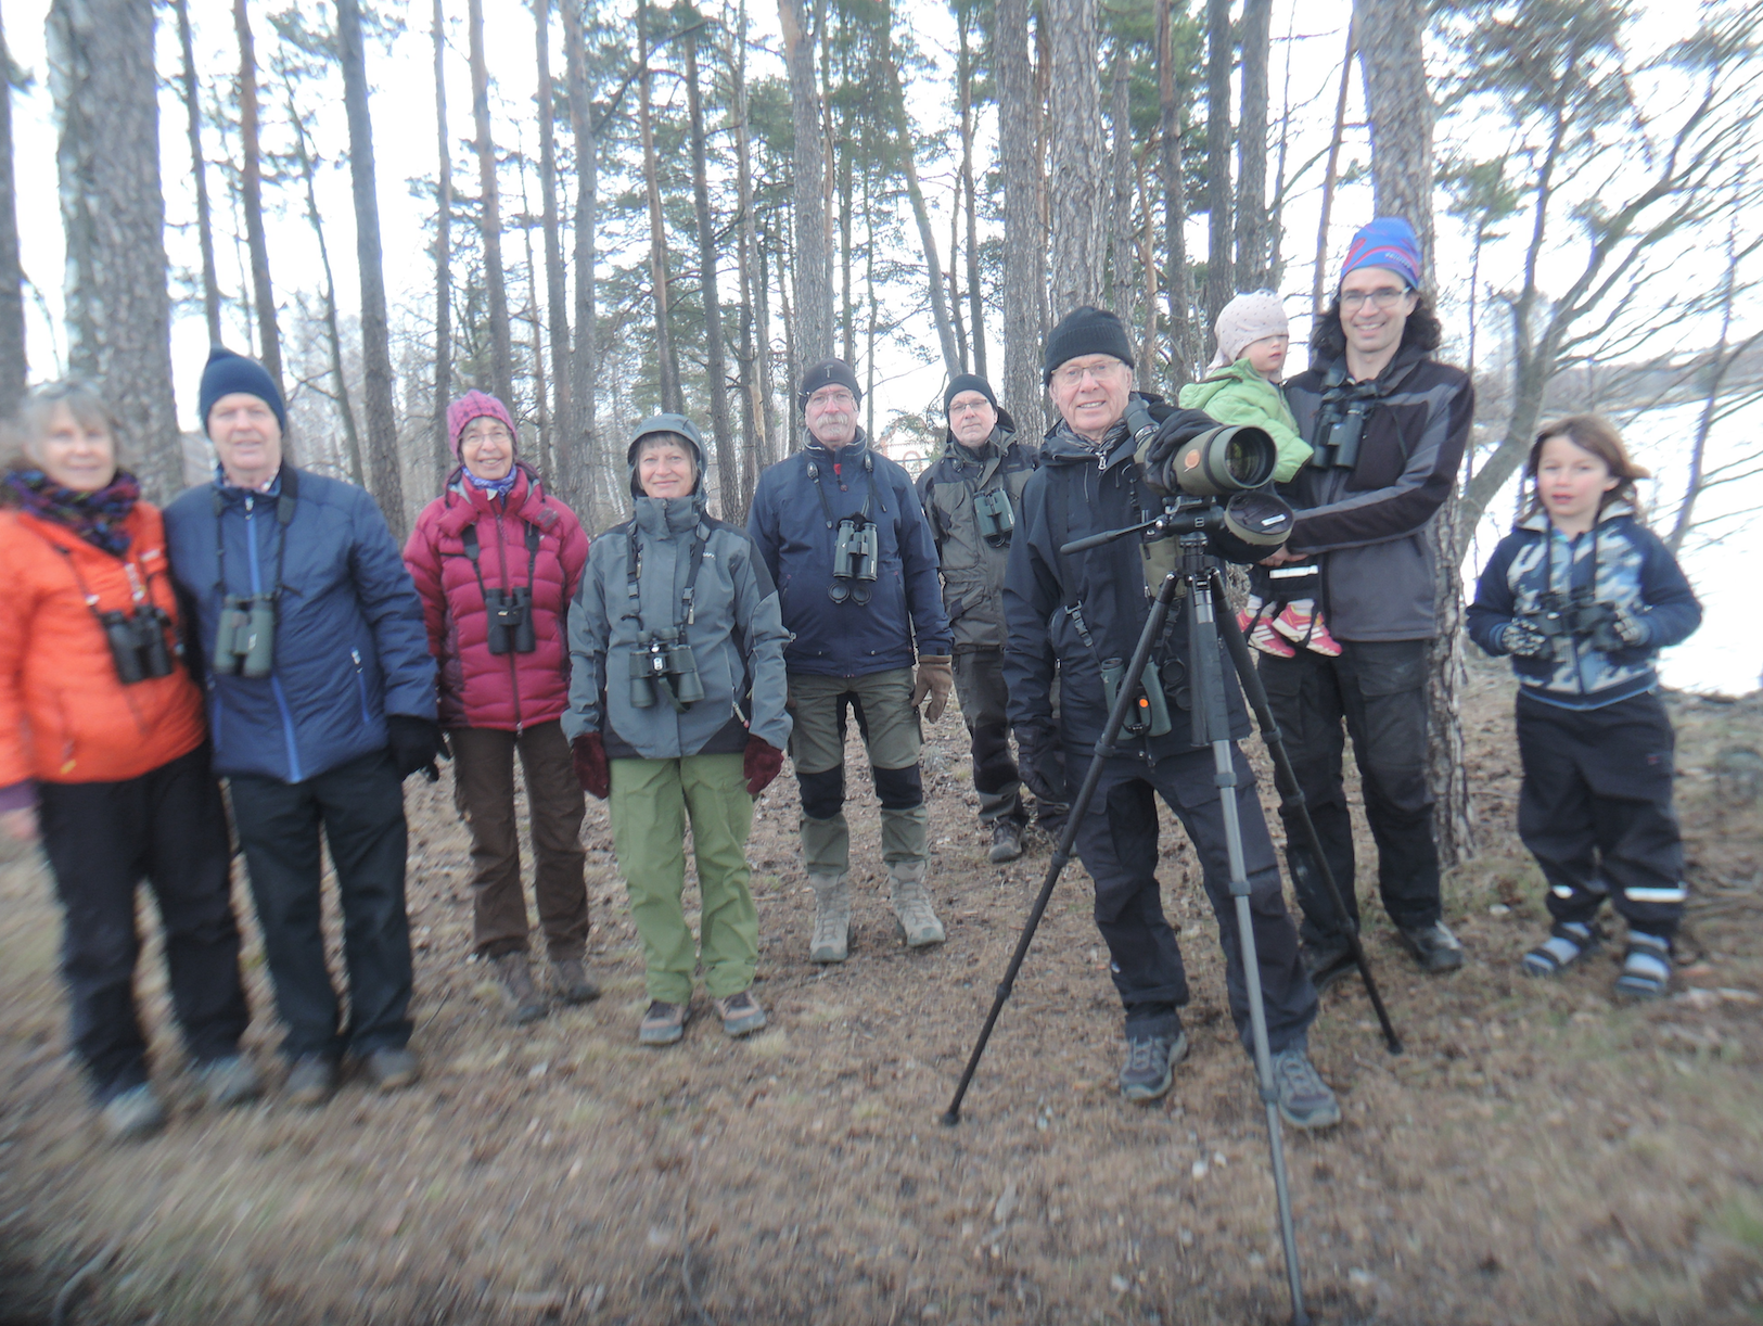
<path fill-rule="evenodd" d="M 931 536 L 943 573 L 943 607 L 956 635 L 956 651 L 1003 649 L 1003 571 L 1010 540 L 980 538 L 973 497 L 998 492 L 1010 499 L 1017 520 L 1023 488 L 1040 464 L 1040 450 L 1023 446 L 1003 414 L 978 451 L 947 436 L 943 455 L 919 476 L 919 501 L 931 518 Z"/>

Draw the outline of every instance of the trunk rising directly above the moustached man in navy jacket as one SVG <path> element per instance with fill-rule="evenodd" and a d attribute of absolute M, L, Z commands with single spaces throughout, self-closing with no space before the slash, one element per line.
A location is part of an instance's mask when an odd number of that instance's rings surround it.
<path fill-rule="evenodd" d="M 785 63 L 790 71 L 790 111 L 795 125 L 792 194 L 795 199 L 795 363 L 832 354 L 832 252 L 827 243 L 827 130 L 815 71 L 815 34 L 802 0 L 777 0 Z"/>

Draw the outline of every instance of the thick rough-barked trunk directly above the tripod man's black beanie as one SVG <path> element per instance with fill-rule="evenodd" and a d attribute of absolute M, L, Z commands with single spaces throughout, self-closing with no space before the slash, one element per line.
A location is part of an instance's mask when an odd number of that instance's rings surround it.
<path fill-rule="evenodd" d="M 1045 0 L 1053 32 L 1047 88 L 1053 316 L 1102 302 L 1104 229 L 1095 187 L 1102 146 L 1102 90 L 1095 0 Z"/>

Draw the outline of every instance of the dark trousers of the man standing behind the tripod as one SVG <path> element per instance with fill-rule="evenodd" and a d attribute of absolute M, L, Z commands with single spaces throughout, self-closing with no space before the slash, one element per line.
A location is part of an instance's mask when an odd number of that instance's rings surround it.
<path fill-rule="evenodd" d="M 1298 959 L 1298 931 L 1280 892 L 1280 869 L 1255 797 L 1255 774 L 1243 753 L 1234 746 L 1232 751 L 1268 1044 L 1278 1053 L 1303 1040 L 1315 1019 L 1317 994 Z M 1088 756 L 1067 751 L 1067 767 L 1079 781 L 1088 762 Z M 1253 1053 L 1236 899 L 1231 898 L 1224 801 L 1209 748 L 1160 760 L 1155 767 L 1125 756 L 1109 760 L 1077 827 L 1077 855 L 1095 882 L 1097 929 L 1107 942 L 1114 987 L 1127 1009 L 1127 1035 L 1174 1033 L 1181 1026 L 1176 1010 L 1188 1002 L 1181 947 L 1164 917 L 1162 885 L 1157 882 L 1157 797 L 1179 816 L 1199 853 L 1206 898 L 1218 919 L 1231 1017 L 1243 1047 Z"/>

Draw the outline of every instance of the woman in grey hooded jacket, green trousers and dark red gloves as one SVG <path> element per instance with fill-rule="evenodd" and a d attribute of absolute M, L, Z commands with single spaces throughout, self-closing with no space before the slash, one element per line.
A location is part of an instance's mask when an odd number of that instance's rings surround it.
<path fill-rule="evenodd" d="M 703 439 L 656 414 L 631 439 L 635 513 L 594 540 L 569 614 L 569 709 L 582 786 L 612 802 L 612 843 L 643 945 L 649 1012 L 638 1040 L 684 1035 L 691 975 L 728 1035 L 765 1026 L 749 987 L 758 910 L 748 887 L 753 801 L 783 767 L 777 591 L 748 534 L 705 511 Z M 681 906 L 686 825 L 702 945 Z"/>

